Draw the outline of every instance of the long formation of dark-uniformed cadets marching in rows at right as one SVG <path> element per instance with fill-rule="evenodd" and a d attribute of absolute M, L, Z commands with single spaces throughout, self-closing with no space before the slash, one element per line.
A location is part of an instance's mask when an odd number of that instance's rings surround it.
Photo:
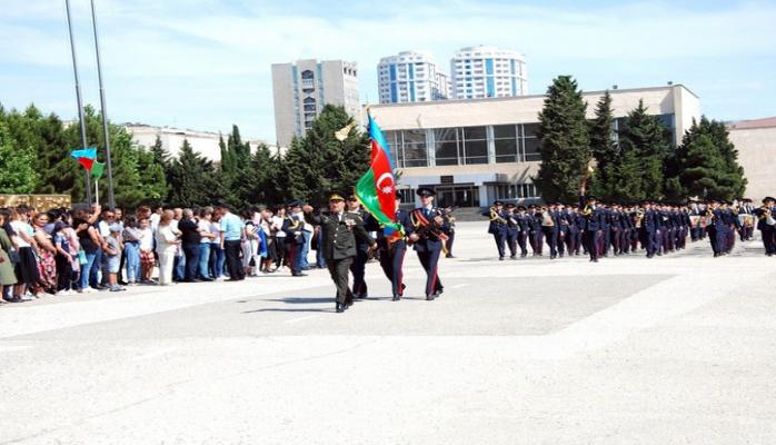
<path fill-rule="evenodd" d="M 589 255 L 598 258 L 634 255 L 638 249 L 647 258 L 671 254 L 687 246 L 687 238 L 708 238 L 714 257 L 728 255 L 736 244 L 750 240 L 755 228 L 760 230 L 765 254 L 776 255 L 776 200 L 763 199 L 755 208 L 750 199 L 709 200 L 686 204 L 644 200 L 636 202 L 599 202 L 595 197 L 580 197 L 579 204 L 515 206 L 495 201 L 484 212 L 490 219 L 491 234 L 504 260 L 528 256 L 550 259 Z M 546 248 L 545 248 L 546 247 Z M 518 251 L 519 249 L 519 251 Z"/>

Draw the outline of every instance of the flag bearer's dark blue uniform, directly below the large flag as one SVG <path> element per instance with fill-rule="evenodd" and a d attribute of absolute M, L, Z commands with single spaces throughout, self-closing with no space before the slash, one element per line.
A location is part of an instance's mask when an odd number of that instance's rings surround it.
<path fill-rule="evenodd" d="M 409 221 L 409 214 L 401 209 L 396 209 L 396 218 L 394 222 L 398 222 L 404 227 L 405 235 L 409 236 L 412 234 L 412 225 Z M 404 261 L 405 255 L 407 254 L 407 241 L 405 238 L 397 239 L 395 241 L 389 241 L 382 228 L 380 227 L 377 219 L 371 215 L 367 215 L 365 219 L 365 227 L 369 231 L 377 231 L 377 247 L 380 254 L 380 267 L 382 273 L 386 274 L 388 280 L 390 280 L 391 290 L 394 293 L 394 301 L 401 299 L 405 291 L 404 285 Z"/>

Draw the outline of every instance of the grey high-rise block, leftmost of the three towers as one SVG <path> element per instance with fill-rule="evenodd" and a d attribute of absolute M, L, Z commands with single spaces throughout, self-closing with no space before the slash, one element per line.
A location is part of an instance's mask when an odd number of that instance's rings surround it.
<path fill-rule="evenodd" d="M 302 137 L 327 103 L 344 106 L 359 119 L 356 62 L 316 59 L 272 65 L 275 129 L 279 147 Z"/>

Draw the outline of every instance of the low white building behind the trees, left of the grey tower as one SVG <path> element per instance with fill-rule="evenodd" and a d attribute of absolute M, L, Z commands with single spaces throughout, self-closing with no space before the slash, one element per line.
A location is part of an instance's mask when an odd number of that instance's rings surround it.
<path fill-rule="evenodd" d="M 202 157 L 212 160 L 213 162 L 221 161 L 221 149 L 218 146 L 220 134 L 212 131 L 197 131 L 172 127 L 153 127 L 142 123 L 125 123 L 127 132 L 132 135 L 132 142 L 146 149 L 152 147 L 157 137 L 161 141 L 161 146 L 172 156 L 177 157 L 180 148 L 183 146 L 183 140 L 188 140 L 191 149 L 200 154 Z M 223 136 L 223 140 L 227 136 Z M 251 150 L 255 150 L 259 145 L 266 144 L 259 139 L 245 139 L 250 145 Z M 278 147 L 269 145 L 272 152 L 277 152 Z"/>

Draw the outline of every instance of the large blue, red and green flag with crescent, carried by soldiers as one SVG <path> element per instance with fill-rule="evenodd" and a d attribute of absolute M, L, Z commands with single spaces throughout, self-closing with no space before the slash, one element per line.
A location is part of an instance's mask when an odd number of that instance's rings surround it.
<path fill-rule="evenodd" d="M 401 225 L 396 218 L 396 180 L 394 162 L 386 138 L 371 115 L 367 113 L 369 139 L 371 140 L 371 164 L 369 170 L 356 184 L 356 197 L 364 208 L 382 226 L 388 238 L 402 235 Z"/>

